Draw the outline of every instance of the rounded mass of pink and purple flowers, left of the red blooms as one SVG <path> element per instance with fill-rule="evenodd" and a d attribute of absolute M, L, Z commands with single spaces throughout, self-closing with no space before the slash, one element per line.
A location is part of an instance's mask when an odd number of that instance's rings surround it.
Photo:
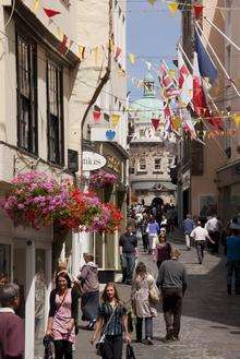
<path fill-rule="evenodd" d="M 67 182 L 59 184 L 45 172 L 21 173 L 12 180 L 3 208 L 16 226 L 39 229 L 69 211 L 68 187 Z"/>

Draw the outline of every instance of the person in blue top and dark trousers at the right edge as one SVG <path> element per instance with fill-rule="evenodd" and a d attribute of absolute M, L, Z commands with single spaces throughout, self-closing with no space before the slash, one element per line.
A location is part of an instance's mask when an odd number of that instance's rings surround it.
<path fill-rule="evenodd" d="M 226 238 L 227 247 L 227 292 L 231 295 L 235 274 L 235 294 L 240 295 L 240 225 L 230 224 L 230 236 Z"/>

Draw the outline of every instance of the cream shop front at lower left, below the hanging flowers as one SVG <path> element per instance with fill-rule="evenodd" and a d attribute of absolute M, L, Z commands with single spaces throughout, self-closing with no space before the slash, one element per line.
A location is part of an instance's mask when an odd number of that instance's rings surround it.
<path fill-rule="evenodd" d="M 20 286 L 17 314 L 25 325 L 25 359 L 40 359 L 51 290 L 52 229 L 14 227 L 2 211 L 0 223 L 0 272 Z"/>

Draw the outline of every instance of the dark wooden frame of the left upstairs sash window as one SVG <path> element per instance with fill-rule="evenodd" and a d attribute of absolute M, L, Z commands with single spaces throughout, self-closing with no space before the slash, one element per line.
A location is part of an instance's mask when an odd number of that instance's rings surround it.
<path fill-rule="evenodd" d="M 16 132 L 17 132 L 17 147 L 32 155 L 38 155 L 38 68 L 37 68 L 37 43 L 24 29 L 16 27 L 15 31 L 15 65 L 16 65 Z M 27 67 L 28 67 L 28 86 L 29 97 L 27 98 L 22 93 L 21 88 L 21 63 L 20 63 L 20 41 L 27 46 Z M 26 71 L 22 69 L 22 72 Z M 27 128 L 28 133 L 25 134 L 27 142 L 26 146 L 23 144 L 24 139 L 21 136 L 21 112 L 23 104 L 29 107 Z M 28 103 L 28 105 L 27 105 Z M 34 134 L 34 135 L 33 135 Z"/>

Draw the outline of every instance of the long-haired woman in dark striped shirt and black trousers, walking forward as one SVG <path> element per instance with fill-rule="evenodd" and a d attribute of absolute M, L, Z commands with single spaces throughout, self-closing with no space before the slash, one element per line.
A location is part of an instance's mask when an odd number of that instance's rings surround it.
<path fill-rule="evenodd" d="M 128 332 L 127 309 L 119 299 L 119 295 L 113 283 L 108 283 L 103 292 L 103 302 L 99 308 L 98 319 L 95 325 L 91 344 L 94 344 L 99 336 L 103 339 L 103 359 L 121 359 L 123 347 L 123 332 L 125 340 L 130 344 Z"/>

